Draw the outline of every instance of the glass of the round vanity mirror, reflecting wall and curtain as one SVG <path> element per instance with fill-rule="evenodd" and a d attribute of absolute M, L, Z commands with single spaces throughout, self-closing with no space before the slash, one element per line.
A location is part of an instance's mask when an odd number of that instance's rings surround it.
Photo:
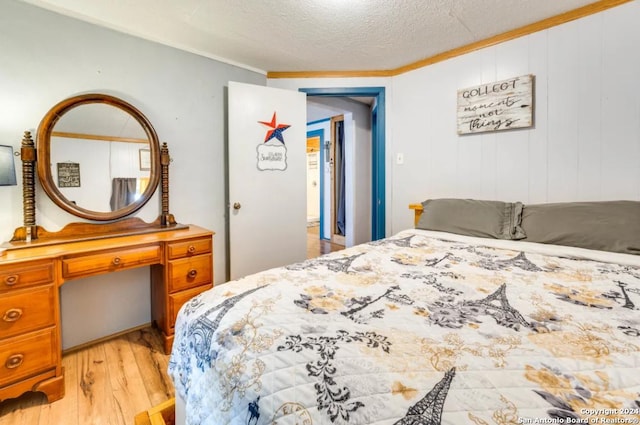
<path fill-rule="evenodd" d="M 96 212 L 137 201 L 150 179 L 145 129 L 127 112 L 99 103 L 64 113 L 51 132 L 51 176 L 66 200 Z"/>

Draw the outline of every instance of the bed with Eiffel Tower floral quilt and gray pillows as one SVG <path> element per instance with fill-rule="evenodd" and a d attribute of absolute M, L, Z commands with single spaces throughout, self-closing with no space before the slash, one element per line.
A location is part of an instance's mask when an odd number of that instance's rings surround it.
<path fill-rule="evenodd" d="M 498 210 L 506 238 L 408 229 L 193 298 L 176 422 L 640 423 L 635 228 L 631 253 L 538 243 Z"/>

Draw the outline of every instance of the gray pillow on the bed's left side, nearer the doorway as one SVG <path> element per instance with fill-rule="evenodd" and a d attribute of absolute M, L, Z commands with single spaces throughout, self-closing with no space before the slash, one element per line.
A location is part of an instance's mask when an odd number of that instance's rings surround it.
<path fill-rule="evenodd" d="M 522 239 L 526 236 L 520 227 L 520 202 L 427 199 L 422 208 L 416 225 L 418 229 L 495 239 Z"/>

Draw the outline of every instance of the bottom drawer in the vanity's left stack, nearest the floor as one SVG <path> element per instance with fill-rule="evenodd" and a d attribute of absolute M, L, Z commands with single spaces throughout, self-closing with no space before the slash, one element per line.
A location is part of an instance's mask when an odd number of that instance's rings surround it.
<path fill-rule="evenodd" d="M 56 366 L 55 328 L 0 342 L 0 387 Z"/>

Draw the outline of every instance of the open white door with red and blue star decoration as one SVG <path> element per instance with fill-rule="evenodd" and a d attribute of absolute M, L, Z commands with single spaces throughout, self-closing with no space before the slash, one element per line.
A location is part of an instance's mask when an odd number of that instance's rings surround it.
<path fill-rule="evenodd" d="M 306 94 L 229 82 L 231 279 L 303 261 Z"/>

